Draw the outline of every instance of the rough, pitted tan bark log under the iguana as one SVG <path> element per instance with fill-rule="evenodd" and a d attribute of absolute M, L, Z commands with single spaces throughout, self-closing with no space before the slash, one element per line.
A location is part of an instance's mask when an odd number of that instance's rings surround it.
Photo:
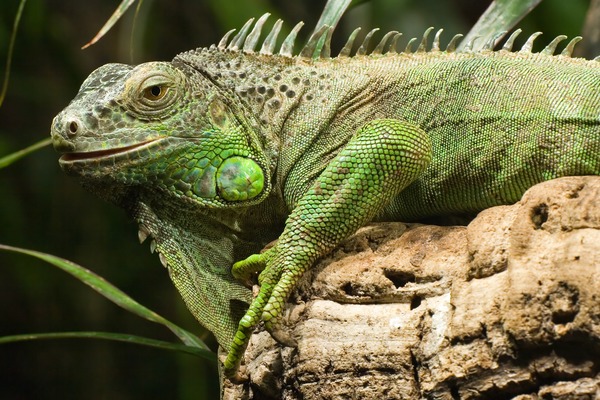
<path fill-rule="evenodd" d="M 303 279 L 225 399 L 600 398 L 600 177 L 468 226 L 361 229 Z"/>

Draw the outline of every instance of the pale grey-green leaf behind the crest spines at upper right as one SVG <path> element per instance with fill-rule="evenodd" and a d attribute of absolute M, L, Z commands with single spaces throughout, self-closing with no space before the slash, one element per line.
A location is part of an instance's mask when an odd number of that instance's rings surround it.
<path fill-rule="evenodd" d="M 477 39 L 473 51 L 481 50 L 483 45 L 500 32 L 508 32 L 531 12 L 542 0 L 495 0 L 479 17 L 473 28 L 458 46 L 463 51 L 467 43 Z M 500 38 L 497 38 L 498 40 Z"/>

